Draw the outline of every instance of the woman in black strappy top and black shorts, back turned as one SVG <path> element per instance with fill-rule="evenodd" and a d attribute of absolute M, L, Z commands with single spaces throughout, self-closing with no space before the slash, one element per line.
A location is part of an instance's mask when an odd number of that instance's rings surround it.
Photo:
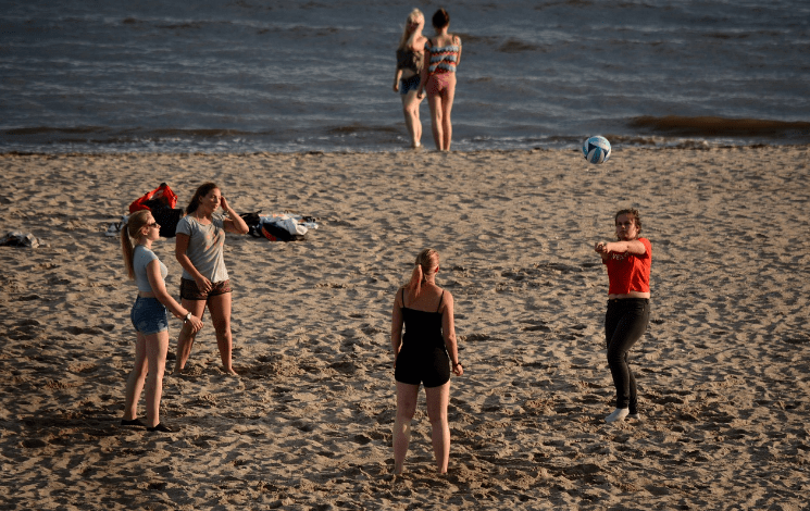
<path fill-rule="evenodd" d="M 416 412 L 420 384 L 425 386 L 433 452 L 439 473 L 450 458 L 450 372 L 464 373 L 459 362 L 452 295 L 436 285 L 439 254 L 425 249 L 416 258 L 408 286 L 397 290 L 391 314 L 394 377 L 397 381 L 397 417 L 394 423 L 394 472 L 402 473 L 411 420 Z M 402 326 L 404 325 L 404 336 Z"/>

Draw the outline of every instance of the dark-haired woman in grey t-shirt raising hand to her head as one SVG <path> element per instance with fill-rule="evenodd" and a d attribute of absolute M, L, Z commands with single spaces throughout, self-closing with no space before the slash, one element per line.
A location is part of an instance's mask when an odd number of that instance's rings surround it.
<path fill-rule="evenodd" d="M 220 207 L 227 216 L 214 214 Z M 232 364 L 234 340 L 230 335 L 230 281 L 225 269 L 225 233 L 247 234 L 248 225 L 228 204 L 213 183 L 197 188 L 177 224 L 175 257 L 183 266 L 183 307 L 202 317 L 205 306 L 211 313 L 223 370 L 236 375 Z M 197 333 L 185 326 L 177 338 L 175 372 L 182 372 L 191 354 Z"/>

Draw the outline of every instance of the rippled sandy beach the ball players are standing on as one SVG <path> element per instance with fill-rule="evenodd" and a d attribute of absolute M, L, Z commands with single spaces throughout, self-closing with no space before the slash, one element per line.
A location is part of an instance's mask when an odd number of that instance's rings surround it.
<path fill-rule="evenodd" d="M 0 509 L 807 509 L 810 146 L 309 154 L 0 155 Z M 228 235 L 234 366 L 210 319 L 164 382 L 172 435 L 120 426 L 135 334 L 127 205 L 216 182 L 239 212 L 289 211 L 296 242 Z M 593 246 L 636 207 L 650 327 L 640 420 L 614 389 Z M 465 374 L 449 473 L 421 396 L 392 475 L 394 294 L 441 253 Z M 174 239 L 155 253 L 177 296 Z M 179 321 L 170 323 L 174 361 Z M 141 401 L 142 413 L 142 401 Z"/>

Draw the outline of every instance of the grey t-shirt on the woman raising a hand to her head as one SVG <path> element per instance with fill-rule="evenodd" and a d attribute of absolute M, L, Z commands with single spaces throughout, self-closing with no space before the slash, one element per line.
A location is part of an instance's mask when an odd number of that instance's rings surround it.
<path fill-rule="evenodd" d="M 225 269 L 225 226 L 222 216 L 213 215 L 209 225 L 201 224 L 194 215 L 187 214 L 177 223 L 177 234 L 188 236 L 186 256 L 202 276 L 212 283 L 228 279 Z M 194 276 L 183 269 L 183 278 L 194 281 Z"/>

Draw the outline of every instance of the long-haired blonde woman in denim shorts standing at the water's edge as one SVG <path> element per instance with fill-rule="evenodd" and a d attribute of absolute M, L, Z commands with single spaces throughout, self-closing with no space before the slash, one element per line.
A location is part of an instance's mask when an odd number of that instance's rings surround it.
<path fill-rule="evenodd" d="M 420 75 L 424 60 L 424 47 L 427 38 L 422 35 L 425 16 L 414 9 L 408 15 L 404 32 L 397 47 L 397 71 L 394 73 L 394 91 L 402 98 L 402 113 L 411 137 L 411 147 L 422 145 L 422 121 L 419 119 L 419 107 L 424 95 L 416 95 L 420 89 Z"/>

